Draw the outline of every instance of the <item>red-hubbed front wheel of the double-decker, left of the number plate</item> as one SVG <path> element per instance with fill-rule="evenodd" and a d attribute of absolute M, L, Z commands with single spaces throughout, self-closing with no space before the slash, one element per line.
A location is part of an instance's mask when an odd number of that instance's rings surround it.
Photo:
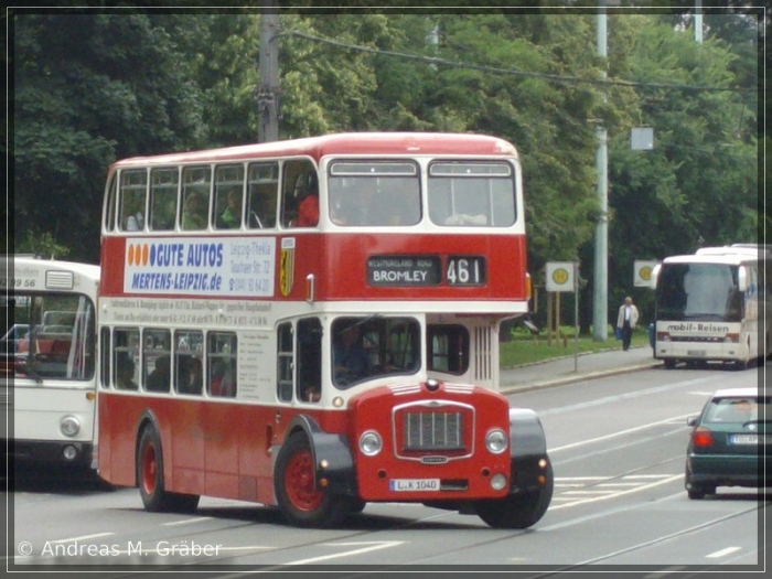
<path fill-rule="evenodd" d="M 330 527 L 351 513 L 345 496 L 317 487 L 313 452 L 302 432 L 292 435 L 281 447 L 274 479 L 279 508 L 292 525 Z"/>

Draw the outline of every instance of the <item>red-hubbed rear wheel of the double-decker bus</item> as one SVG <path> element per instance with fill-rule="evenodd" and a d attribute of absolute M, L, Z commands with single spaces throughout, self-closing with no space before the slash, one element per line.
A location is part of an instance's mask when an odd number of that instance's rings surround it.
<path fill-rule="evenodd" d="M 199 506 L 197 494 L 165 491 L 161 437 L 158 436 L 153 427 L 144 428 L 139 439 L 137 481 L 146 511 L 151 513 L 194 513 Z"/>

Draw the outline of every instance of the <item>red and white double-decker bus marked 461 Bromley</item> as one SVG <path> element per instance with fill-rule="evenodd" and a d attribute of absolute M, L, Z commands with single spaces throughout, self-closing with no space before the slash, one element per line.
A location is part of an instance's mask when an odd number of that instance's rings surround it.
<path fill-rule="evenodd" d="M 330 526 L 368 502 L 538 522 L 538 417 L 498 390 L 527 311 L 516 149 L 343 133 L 128 159 L 106 187 L 100 475 Z"/>

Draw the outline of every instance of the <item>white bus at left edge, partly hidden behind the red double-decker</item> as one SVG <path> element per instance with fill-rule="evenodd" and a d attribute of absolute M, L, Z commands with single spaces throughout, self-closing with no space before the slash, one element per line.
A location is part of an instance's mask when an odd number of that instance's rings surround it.
<path fill-rule="evenodd" d="M 7 459 L 87 470 L 96 428 L 99 267 L 18 255 L 0 260 Z"/>

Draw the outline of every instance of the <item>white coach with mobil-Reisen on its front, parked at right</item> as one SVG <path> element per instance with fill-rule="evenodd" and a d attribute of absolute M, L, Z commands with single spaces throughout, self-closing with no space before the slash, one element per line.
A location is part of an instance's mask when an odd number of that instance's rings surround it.
<path fill-rule="evenodd" d="M 654 357 L 732 364 L 739 369 L 771 353 L 771 253 L 764 246 L 706 247 L 666 258 L 654 271 Z M 765 279 L 766 278 L 766 279 Z"/>

